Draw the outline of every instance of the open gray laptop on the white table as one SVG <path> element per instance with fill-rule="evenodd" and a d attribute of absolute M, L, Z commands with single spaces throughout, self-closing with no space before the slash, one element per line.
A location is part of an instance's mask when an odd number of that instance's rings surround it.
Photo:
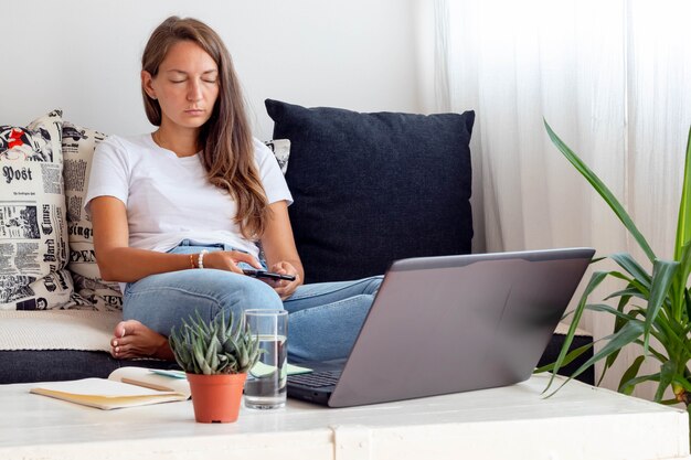
<path fill-rule="evenodd" d="M 288 396 L 349 407 L 530 377 L 595 250 L 394 261 L 344 362 L 304 363 Z"/>

